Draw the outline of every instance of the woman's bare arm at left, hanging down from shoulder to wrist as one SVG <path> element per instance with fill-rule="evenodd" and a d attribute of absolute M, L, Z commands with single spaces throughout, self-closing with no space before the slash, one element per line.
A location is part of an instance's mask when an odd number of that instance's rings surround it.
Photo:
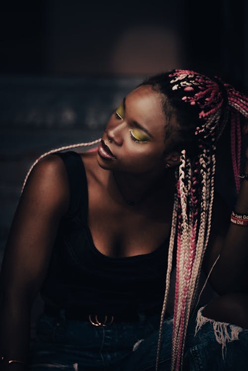
<path fill-rule="evenodd" d="M 0 357 L 27 363 L 30 309 L 46 276 L 62 215 L 69 203 L 59 156 L 32 170 L 15 212 L 0 273 Z M 1 370 L 23 370 L 0 362 Z"/>

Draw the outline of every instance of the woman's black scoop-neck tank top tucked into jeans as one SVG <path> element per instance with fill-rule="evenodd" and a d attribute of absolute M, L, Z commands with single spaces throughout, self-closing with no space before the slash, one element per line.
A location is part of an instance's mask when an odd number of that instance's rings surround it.
<path fill-rule="evenodd" d="M 81 156 L 58 153 L 64 161 L 70 205 L 62 217 L 47 276 L 45 303 L 89 313 L 161 312 L 169 240 L 149 254 L 110 258 L 94 246 L 87 224 L 88 189 Z M 174 259 L 175 262 L 175 259 Z"/>

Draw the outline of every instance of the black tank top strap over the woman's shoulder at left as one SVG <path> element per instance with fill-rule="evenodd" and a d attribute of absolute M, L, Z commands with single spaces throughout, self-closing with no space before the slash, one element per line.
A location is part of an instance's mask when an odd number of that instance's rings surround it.
<path fill-rule="evenodd" d="M 80 219 L 87 222 L 88 186 L 81 156 L 75 151 L 57 152 L 56 155 L 64 162 L 70 186 L 70 203 L 66 216 L 78 214 Z"/>

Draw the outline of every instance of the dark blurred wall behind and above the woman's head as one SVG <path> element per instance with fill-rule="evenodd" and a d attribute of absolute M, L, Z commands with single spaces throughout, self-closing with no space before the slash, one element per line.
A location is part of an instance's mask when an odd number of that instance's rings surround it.
<path fill-rule="evenodd" d="M 143 75 L 173 67 L 248 87 L 245 0 L 1 5 L 1 74 Z"/>

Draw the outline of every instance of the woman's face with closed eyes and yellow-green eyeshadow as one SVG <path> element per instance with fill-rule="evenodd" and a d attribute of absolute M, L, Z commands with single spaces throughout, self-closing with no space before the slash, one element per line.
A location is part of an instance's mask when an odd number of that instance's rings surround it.
<path fill-rule="evenodd" d="M 150 85 L 129 93 L 112 114 L 97 160 L 102 168 L 149 173 L 164 168 L 166 117 L 161 95 Z"/>

